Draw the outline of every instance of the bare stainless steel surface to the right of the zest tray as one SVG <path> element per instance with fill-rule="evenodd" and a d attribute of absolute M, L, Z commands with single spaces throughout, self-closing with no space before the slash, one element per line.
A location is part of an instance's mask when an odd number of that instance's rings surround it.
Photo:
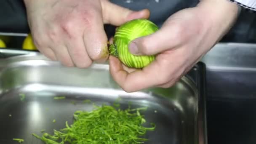
<path fill-rule="evenodd" d="M 209 144 L 255 144 L 256 45 L 220 43 L 206 65 Z"/>

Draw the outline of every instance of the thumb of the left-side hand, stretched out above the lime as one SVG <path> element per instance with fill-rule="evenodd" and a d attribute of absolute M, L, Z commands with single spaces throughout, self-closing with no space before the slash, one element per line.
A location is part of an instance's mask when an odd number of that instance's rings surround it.
<path fill-rule="evenodd" d="M 123 8 L 119 5 L 109 2 L 108 0 L 102 0 L 102 15 L 105 24 L 112 24 L 120 26 L 127 21 L 133 19 L 148 19 L 149 10 L 144 9 L 141 11 L 132 11 L 128 8 Z"/>

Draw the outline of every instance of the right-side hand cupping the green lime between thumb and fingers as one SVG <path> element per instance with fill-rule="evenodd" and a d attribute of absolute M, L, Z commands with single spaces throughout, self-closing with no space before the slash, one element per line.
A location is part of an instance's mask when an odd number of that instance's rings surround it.
<path fill-rule="evenodd" d="M 237 13 L 238 6 L 227 0 L 201 0 L 195 8 L 178 11 L 160 30 L 129 45 L 136 55 L 157 54 L 155 61 L 131 70 L 110 56 L 112 77 L 126 92 L 171 87 L 229 31 Z"/>

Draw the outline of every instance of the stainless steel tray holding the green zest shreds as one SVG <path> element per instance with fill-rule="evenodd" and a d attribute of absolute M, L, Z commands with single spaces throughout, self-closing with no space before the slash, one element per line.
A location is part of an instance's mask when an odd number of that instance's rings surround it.
<path fill-rule="evenodd" d="M 204 93 L 190 78 L 182 77 L 171 88 L 149 88 L 125 93 L 109 75 L 108 64 L 88 69 L 62 67 L 40 54 L 0 60 L 0 144 L 43 144 L 32 136 L 40 130 L 72 123 L 76 110 L 91 110 L 96 104 L 112 104 L 121 98 L 123 108 L 147 106 L 143 114 L 155 131 L 148 132 L 145 144 L 207 144 Z M 26 95 L 21 101 L 19 94 Z M 54 96 L 66 99 L 54 100 Z M 72 104 L 75 101 L 76 104 Z M 53 119 L 56 123 L 53 123 Z"/>

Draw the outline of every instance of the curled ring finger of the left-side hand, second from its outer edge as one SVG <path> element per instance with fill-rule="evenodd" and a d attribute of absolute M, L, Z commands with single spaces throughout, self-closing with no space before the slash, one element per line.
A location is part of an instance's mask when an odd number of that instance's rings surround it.
<path fill-rule="evenodd" d="M 53 52 L 55 53 L 55 56 L 57 58 L 58 61 L 61 62 L 61 64 L 63 64 L 64 66 L 67 67 L 73 67 L 74 63 L 69 55 L 69 52 L 67 50 L 67 47 L 65 45 L 59 45 L 54 46 L 52 48 Z"/>

